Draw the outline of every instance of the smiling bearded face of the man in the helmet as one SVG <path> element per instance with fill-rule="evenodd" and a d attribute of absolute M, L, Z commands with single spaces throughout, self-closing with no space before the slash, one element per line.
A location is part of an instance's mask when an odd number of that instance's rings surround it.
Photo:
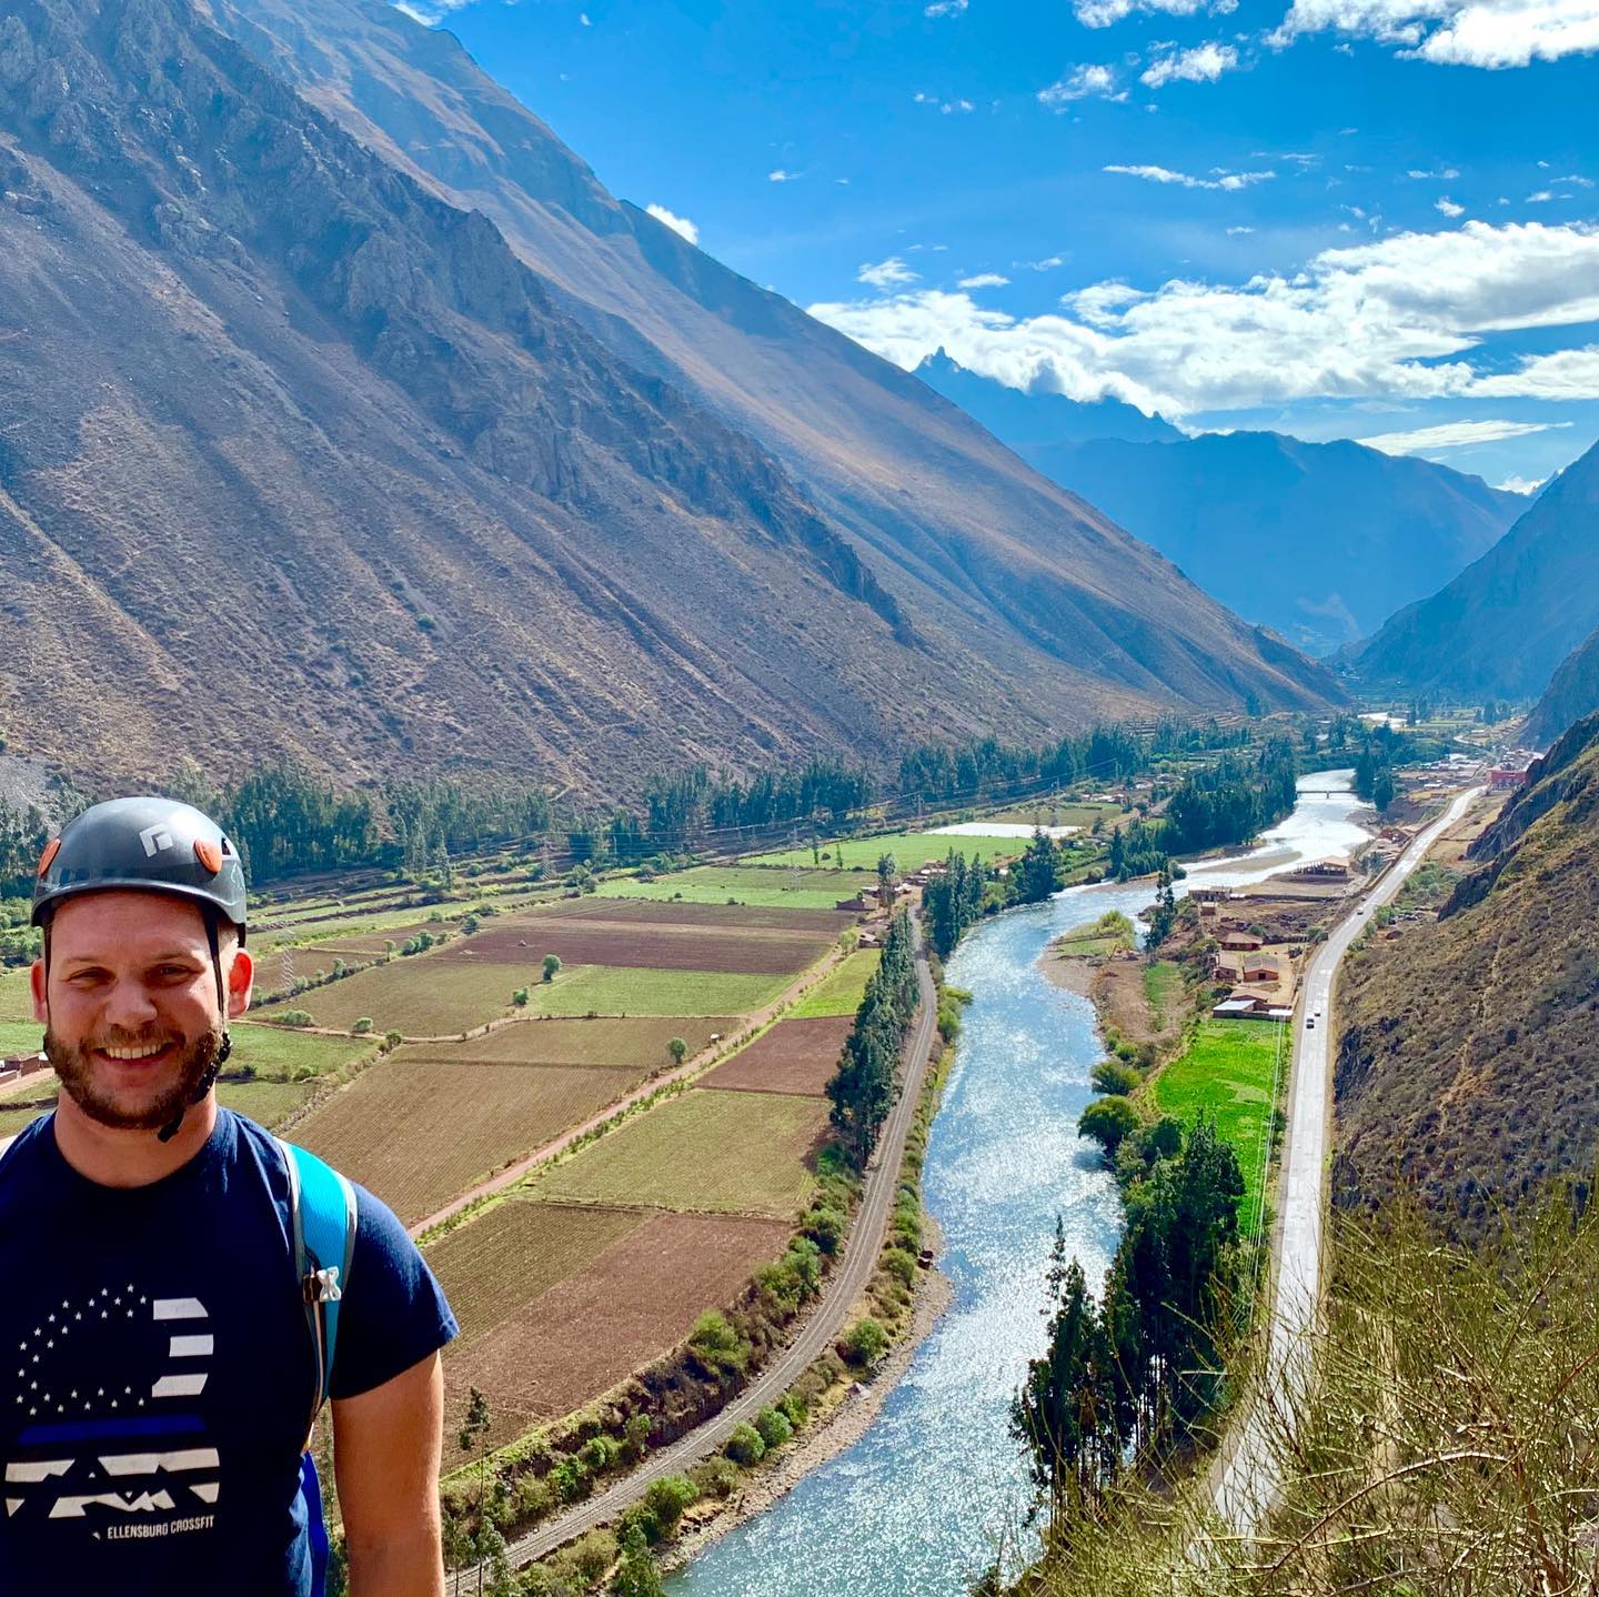
<path fill-rule="evenodd" d="M 249 956 L 222 942 L 229 1014 L 249 1001 Z M 169 894 L 67 898 L 50 929 L 50 990 L 34 1015 L 62 1087 L 91 1119 L 158 1130 L 189 1105 L 222 1045 L 200 910 Z"/>

